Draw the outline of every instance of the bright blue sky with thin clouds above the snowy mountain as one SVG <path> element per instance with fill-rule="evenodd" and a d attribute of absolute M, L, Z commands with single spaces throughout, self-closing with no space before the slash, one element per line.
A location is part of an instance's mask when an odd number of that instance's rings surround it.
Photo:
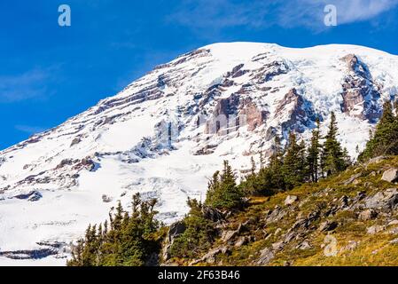
<path fill-rule="evenodd" d="M 58 25 L 60 4 L 72 26 Z M 324 26 L 324 6 L 338 26 Z M 325 43 L 398 54 L 398 0 L 0 2 L 0 149 L 79 114 L 208 43 Z M 398 67 L 397 67 L 398 69 Z"/>

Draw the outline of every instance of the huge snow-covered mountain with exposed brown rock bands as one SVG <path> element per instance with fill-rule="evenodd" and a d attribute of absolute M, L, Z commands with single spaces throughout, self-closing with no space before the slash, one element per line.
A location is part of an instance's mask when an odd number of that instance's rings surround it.
<path fill-rule="evenodd" d="M 242 176 L 276 135 L 307 138 L 332 111 L 355 156 L 397 94 L 398 56 L 360 46 L 217 43 L 184 54 L 0 152 L 0 265 L 65 264 L 70 241 L 137 192 L 173 222 L 187 197 L 203 200 L 222 160 Z"/>

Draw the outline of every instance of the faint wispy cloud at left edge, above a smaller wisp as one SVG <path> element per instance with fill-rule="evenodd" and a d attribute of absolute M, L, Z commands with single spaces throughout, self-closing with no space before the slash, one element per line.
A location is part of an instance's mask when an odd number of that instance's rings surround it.
<path fill-rule="evenodd" d="M 20 75 L 0 75 L 0 102 L 42 98 L 50 74 L 50 70 L 37 68 Z"/>

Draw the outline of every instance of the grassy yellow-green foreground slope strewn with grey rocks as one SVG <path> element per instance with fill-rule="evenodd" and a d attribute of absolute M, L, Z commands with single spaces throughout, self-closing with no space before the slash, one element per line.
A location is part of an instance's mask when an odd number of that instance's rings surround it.
<path fill-rule="evenodd" d="M 396 181 L 397 167 L 396 156 L 378 157 L 317 184 L 251 198 L 216 225 L 212 248 L 166 264 L 395 266 L 398 189 L 388 177 Z"/>

